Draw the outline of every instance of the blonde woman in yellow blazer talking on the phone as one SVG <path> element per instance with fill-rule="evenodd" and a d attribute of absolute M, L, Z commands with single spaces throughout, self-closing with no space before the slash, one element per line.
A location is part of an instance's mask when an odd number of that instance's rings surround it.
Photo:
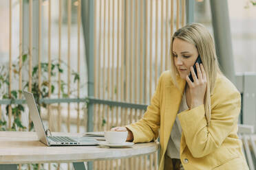
<path fill-rule="evenodd" d="M 171 70 L 160 76 L 142 119 L 111 130 L 127 130 L 134 143 L 154 141 L 160 130 L 161 170 L 248 169 L 237 136 L 240 104 L 237 88 L 219 69 L 211 34 L 194 23 L 173 35 Z"/>

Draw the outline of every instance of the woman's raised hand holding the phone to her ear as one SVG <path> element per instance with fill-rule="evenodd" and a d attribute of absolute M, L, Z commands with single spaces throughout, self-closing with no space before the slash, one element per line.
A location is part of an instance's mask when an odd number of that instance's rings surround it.
<path fill-rule="evenodd" d="M 191 74 L 194 82 L 191 82 L 189 75 L 186 75 L 186 82 L 189 84 L 189 92 L 191 95 L 191 109 L 204 104 L 204 95 L 206 92 L 206 73 L 202 64 L 195 64 L 198 71 L 198 77 L 195 75 L 193 66 L 191 66 Z"/>

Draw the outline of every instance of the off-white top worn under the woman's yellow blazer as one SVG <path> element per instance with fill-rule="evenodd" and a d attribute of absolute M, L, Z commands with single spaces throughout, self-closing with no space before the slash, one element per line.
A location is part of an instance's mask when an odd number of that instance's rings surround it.
<path fill-rule="evenodd" d="M 180 103 L 180 108 L 178 113 L 189 109 L 186 104 L 186 95 L 184 93 L 182 101 Z M 167 156 L 170 158 L 180 159 L 180 139 L 182 136 L 182 127 L 178 117 L 176 117 L 175 122 L 173 123 L 173 128 L 171 130 L 171 135 L 167 145 Z"/>

